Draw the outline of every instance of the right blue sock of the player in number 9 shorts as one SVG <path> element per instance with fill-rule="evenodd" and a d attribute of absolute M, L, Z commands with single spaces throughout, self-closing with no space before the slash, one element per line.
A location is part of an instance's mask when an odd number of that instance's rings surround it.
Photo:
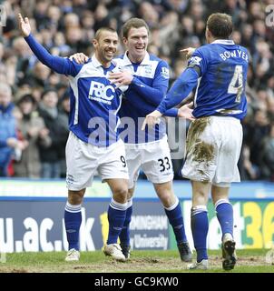
<path fill-rule="evenodd" d="M 127 203 L 118 203 L 112 199 L 108 209 L 109 236 L 106 242 L 107 245 L 117 244 L 118 236 L 124 224 L 127 205 Z"/>

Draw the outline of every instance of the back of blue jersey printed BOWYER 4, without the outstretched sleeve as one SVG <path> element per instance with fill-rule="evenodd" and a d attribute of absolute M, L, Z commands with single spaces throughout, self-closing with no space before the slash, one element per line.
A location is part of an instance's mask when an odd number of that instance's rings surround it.
<path fill-rule="evenodd" d="M 195 117 L 226 115 L 242 119 L 247 112 L 247 49 L 231 40 L 216 40 L 194 52 L 188 67 L 195 65 L 201 69 L 201 78 L 192 114 Z"/>

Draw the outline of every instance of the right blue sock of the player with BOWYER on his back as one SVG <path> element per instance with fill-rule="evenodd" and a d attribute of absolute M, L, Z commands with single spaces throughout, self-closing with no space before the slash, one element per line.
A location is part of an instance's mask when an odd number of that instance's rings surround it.
<path fill-rule="evenodd" d="M 226 199 L 220 199 L 216 202 L 215 209 L 222 236 L 227 233 L 233 236 L 233 207 L 230 202 Z"/>

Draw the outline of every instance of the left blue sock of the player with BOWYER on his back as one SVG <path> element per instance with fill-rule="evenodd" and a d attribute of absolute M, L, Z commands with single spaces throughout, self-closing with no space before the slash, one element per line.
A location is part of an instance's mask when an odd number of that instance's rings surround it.
<path fill-rule="evenodd" d="M 208 259 L 207 236 L 209 219 L 206 206 L 195 206 L 191 209 L 191 231 L 197 252 L 197 262 Z"/>

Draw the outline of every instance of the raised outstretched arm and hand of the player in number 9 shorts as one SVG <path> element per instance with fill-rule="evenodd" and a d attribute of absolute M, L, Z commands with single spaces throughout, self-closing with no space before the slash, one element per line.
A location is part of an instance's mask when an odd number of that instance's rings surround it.
<path fill-rule="evenodd" d="M 24 36 L 24 40 L 30 46 L 34 55 L 42 62 L 44 65 L 50 67 L 54 72 L 64 75 L 77 75 L 82 67 L 82 65 L 75 65 L 72 61 L 67 58 L 54 56 L 48 53 L 43 45 L 40 45 L 31 35 L 31 25 L 27 17 L 22 17 L 21 14 L 18 15 L 19 29 L 21 34 Z"/>

